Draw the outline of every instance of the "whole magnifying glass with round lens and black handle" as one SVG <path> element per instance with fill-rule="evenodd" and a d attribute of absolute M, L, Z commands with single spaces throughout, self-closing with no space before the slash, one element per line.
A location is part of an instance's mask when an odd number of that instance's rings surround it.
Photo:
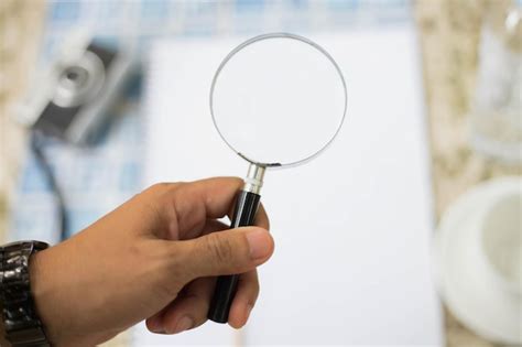
<path fill-rule="evenodd" d="M 255 36 L 225 57 L 211 84 L 210 112 L 222 140 L 250 164 L 230 228 L 253 224 L 267 170 L 303 164 L 331 143 L 346 105 L 339 66 L 303 36 Z M 209 319 L 228 322 L 238 279 L 218 278 Z"/>

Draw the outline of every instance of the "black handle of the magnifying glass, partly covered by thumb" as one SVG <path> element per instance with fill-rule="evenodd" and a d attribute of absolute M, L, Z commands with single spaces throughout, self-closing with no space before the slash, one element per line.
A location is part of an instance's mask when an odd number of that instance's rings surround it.
<path fill-rule="evenodd" d="M 261 196 L 255 193 L 240 191 L 236 199 L 230 228 L 253 225 Z M 227 323 L 230 306 L 238 289 L 238 274 L 220 275 L 208 311 L 208 319 L 216 323 Z"/>

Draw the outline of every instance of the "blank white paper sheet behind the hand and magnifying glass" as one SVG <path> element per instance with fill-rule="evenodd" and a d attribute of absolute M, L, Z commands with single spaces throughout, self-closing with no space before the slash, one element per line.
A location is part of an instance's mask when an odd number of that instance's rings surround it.
<path fill-rule="evenodd" d="M 429 269 L 433 228 L 421 71 L 412 28 L 308 35 L 348 85 L 345 128 L 311 163 L 268 172 L 262 192 L 276 250 L 246 345 L 442 345 Z M 208 91 L 244 37 L 157 42 L 146 83 L 146 183 L 246 174 L 221 141 Z M 214 323 L 180 336 L 143 326 L 135 346 L 230 345 Z"/>

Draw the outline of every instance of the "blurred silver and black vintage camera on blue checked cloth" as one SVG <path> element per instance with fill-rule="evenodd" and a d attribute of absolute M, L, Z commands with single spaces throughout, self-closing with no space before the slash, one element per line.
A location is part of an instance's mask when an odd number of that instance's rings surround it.
<path fill-rule="evenodd" d="M 79 40 L 79 39 L 77 39 Z M 23 118 L 32 128 L 74 144 L 86 144 L 131 74 L 130 50 L 95 41 L 64 45 L 28 97 Z"/>

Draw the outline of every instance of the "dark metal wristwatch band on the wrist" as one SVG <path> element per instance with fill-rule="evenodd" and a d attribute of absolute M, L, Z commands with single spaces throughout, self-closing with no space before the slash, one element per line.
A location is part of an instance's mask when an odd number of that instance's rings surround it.
<path fill-rule="evenodd" d="M 0 247 L 0 307 L 6 338 L 13 347 L 51 346 L 31 294 L 29 261 L 48 247 L 40 241 L 20 241 Z"/>

